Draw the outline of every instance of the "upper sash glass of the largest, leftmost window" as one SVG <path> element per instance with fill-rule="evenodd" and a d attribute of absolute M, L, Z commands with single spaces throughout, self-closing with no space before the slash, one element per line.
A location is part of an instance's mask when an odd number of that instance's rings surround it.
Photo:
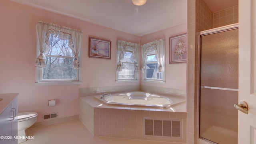
<path fill-rule="evenodd" d="M 62 40 L 58 38 L 58 36 L 54 36 L 54 34 L 50 34 L 49 44 L 51 50 L 47 53 L 47 55 L 52 56 L 72 56 L 72 49 L 68 46 L 68 40 Z"/>

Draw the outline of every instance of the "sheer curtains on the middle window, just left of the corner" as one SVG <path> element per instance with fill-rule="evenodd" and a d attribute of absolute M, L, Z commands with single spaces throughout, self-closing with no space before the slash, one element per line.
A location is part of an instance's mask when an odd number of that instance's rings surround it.
<path fill-rule="evenodd" d="M 126 51 L 132 52 L 132 58 L 135 62 L 135 70 L 138 71 L 138 48 L 139 44 L 134 44 L 131 42 L 125 42 L 122 40 L 117 41 L 117 53 L 118 53 L 118 64 L 116 70 L 118 72 L 122 71 L 122 62 L 121 60 L 124 59 L 124 54 Z"/>

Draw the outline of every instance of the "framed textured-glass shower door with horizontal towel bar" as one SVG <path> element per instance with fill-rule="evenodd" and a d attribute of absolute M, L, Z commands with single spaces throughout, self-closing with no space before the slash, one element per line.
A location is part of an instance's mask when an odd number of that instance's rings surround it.
<path fill-rule="evenodd" d="M 237 144 L 238 24 L 200 33 L 200 138 Z"/>

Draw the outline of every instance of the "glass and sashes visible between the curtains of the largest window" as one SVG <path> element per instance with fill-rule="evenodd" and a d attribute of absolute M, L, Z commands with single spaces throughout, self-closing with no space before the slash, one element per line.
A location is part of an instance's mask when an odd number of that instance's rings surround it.
<path fill-rule="evenodd" d="M 55 34 L 49 35 L 50 50 L 44 54 L 46 67 L 42 68 L 40 80 L 51 81 L 77 81 L 78 70 L 72 67 L 74 55 L 68 46 L 68 40 L 62 40 Z"/>

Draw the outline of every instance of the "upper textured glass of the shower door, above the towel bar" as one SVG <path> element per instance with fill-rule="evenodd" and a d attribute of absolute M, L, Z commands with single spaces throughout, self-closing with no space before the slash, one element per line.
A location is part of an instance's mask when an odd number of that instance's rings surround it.
<path fill-rule="evenodd" d="M 202 36 L 201 85 L 238 88 L 238 29 Z"/>

